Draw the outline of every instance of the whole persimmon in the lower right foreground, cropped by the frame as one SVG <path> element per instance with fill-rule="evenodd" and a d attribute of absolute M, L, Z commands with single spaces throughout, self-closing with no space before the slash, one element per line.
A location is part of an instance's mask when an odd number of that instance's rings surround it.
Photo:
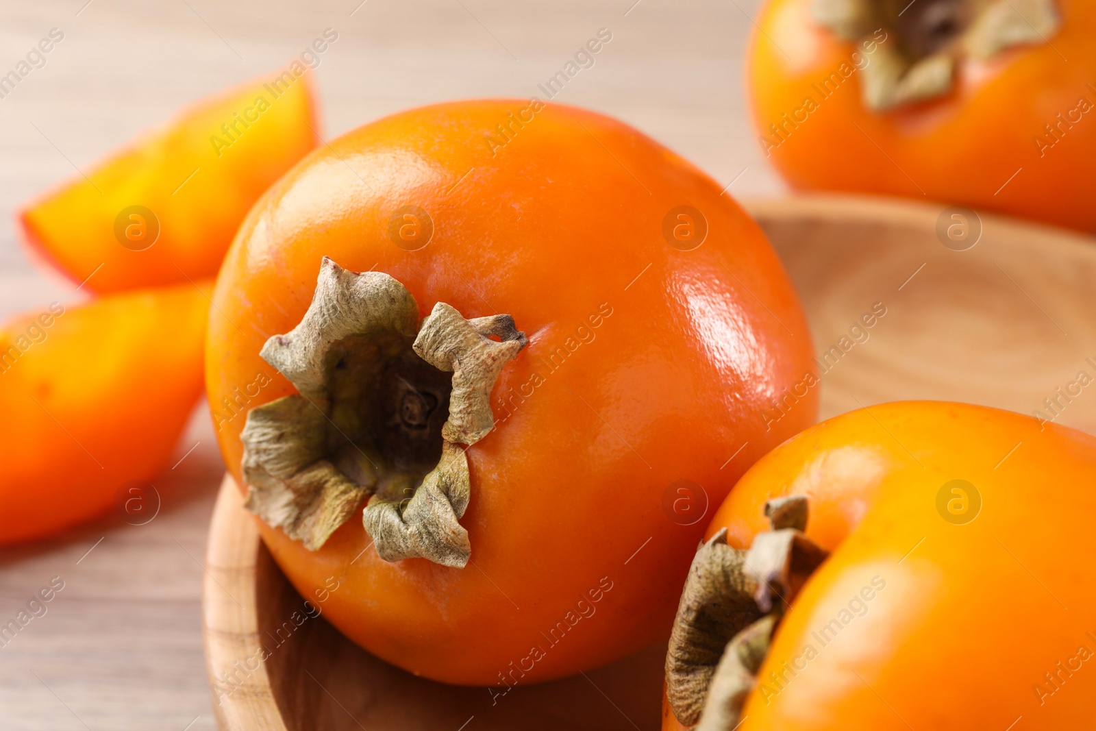
<path fill-rule="evenodd" d="M 708 527 L 663 729 L 1084 728 L 1094 478 L 1093 436 L 970 404 L 875 406 L 789 439 Z"/>

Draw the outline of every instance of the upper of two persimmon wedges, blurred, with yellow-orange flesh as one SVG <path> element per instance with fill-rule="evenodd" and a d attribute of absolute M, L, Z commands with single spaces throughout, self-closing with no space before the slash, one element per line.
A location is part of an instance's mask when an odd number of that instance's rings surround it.
<path fill-rule="evenodd" d="M 25 242 L 96 293 L 215 276 L 254 202 L 317 144 L 311 75 L 277 89 L 274 76 L 202 100 L 85 170 L 88 179 L 78 174 L 27 205 L 19 216 Z M 261 112 L 260 98 L 269 103 Z M 159 238 L 141 251 L 134 249 L 144 241 L 127 248 L 115 232 L 134 205 L 159 220 Z M 151 230 L 148 220 L 123 220 L 146 226 L 134 236 Z"/>

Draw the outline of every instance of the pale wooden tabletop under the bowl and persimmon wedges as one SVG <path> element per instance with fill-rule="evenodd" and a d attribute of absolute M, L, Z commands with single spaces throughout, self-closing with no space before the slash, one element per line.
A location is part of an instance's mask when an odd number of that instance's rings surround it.
<path fill-rule="evenodd" d="M 529 96 L 598 28 L 612 41 L 557 101 L 618 116 L 737 195 L 780 189 L 754 144 L 742 55 L 757 0 L 36 0 L 0 5 L 0 73 L 50 28 L 65 38 L 0 99 L 0 213 L 78 174 L 204 94 L 270 71 L 324 28 L 326 135 L 429 102 Z M 87 4 L 85 4 L 87 3 Z M 0 227 L 0 315 L 80 293 Z M 204 408 L 145 526 L 111 517 L 0 551 L 0 620 L 58 575 L 65 589 L 0 648 L 0 727 L 214 729 L 201 564 L 222 467 Z M 8 458 L 18 456 L 5 455 Z M 174 460 L 173 460 L 174 464 Z"/>

